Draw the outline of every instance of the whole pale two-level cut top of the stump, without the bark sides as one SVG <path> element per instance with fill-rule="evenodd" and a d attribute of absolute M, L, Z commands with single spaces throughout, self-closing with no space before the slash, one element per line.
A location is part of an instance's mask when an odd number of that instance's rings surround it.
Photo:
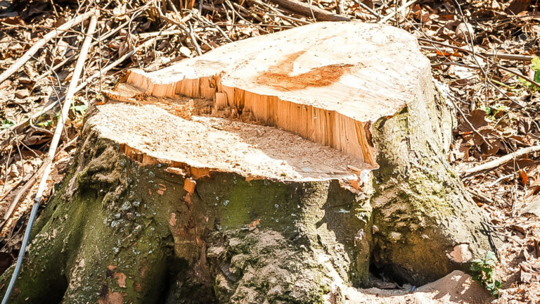
<path fill-rule="evenodd" d="M 144 105 L 137 123 L 113 113 L 122 108 L 134 119 L 141 108 L 120 104 L 101 106 L 95 120 L 103 132 L 122 132 L 131 148 L 156 157 L 258 177 L 330 178 L 378 167 L 373 124 L 422 100 L 429 84 L 429 61 L 410 34 L 385 25 L 315 23 L 156 72 L 131 70 L 108 97 Z M 160 108 L 180 118 L 167 116 L 172 125 L 157 126 Z M 150 113 L 156 116 L 145 118 Z"/>

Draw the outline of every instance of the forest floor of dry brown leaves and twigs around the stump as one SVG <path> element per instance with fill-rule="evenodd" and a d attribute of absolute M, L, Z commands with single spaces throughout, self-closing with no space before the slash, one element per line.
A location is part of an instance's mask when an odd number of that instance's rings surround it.
<path fill-rule="evenodd" d="M 432 62 L 436 86 L 456 109 L 459 124 L 449 161 L 487 213 L 493 233 L 504 239 L 497 248 L 494 271 L 503 286 L 494 303 L 539 303 L 538 1 L 304 1 L 326 15 L 313 9 L 291 11 L 279 2 L 0 1 L 0 72 L 54 27 L 91 8 L 101 14 L 100 39 L 91 48 L 82 80 L 96 77 L 76 95 L 46 198 L 72 161 L 86 108 L 101 101 L 102 90 L 113 87 L 129 68 L 158 70 L 229 42 L 336 15 L 385 23 L 419 38 L 420 49 Z M 32 177 L 58 120 L 57 109 L 44 108 L 65 94 L 86 27 L 82 23 L 59 34 L 11 77 L 0 80 L 0 272 L 18 255 L 37 190 Z M 116 63 L 118 58 L 123 60 Z M 504 156 L 508 160 L 503 161 Z M 475 170 L 491 160 L 500 163 Z M 23 195 L 17 201 L 19 192 Z M 10 205 L 15 207 L 13 213 L 8 213 Z"/>

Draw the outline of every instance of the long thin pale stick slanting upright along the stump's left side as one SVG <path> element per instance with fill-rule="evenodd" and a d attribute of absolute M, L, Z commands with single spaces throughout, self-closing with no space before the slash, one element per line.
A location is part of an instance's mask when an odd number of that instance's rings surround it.
<path fill-rule="evenodd" d="M 94 10 L 91 10 L 90 12 L 94 13 Z M 36 199 L 34 201 L 34 205 L 32 206 L 32 212 L 30 213 L 30 218 L 28 219 L 28 224 L 26 227 L 25 236 L 23 238 L 23 243 L 20 246 L 19 256 L 17 258 L 17 265 L 15 265 L 15 270 L 13 270 L 13 276 L 11 277 L 11 281 L 9 282 L 9 286 L 6 291 L 6 294 L 4 295 L 4 299 L 2 300 L 2 304 L 6 304 L 8 302 L 9 297 L 11 296 L 11 291 L 13 291 L 13 286 L 15 286 L 15 281 L 17 280 L 17 277 L 20 272 L 20 266 L 23 264 L 23 258 L 25 256 L 26 246 L 28 243 L 28 239 L 30 239 L 30 231 L 32 230 L 32 224 L 34 224 L 34 219 L 36 217 L 37 210 L 39 209 L 39 204 L 41 203 L 41 196 L 43 195 L 43 191 L 47 185 L 47 178 L 49 177 L 49 174 L 51 173 L 52 160 L 54 158 L 54 155 L 56 154 L 56 148 L 58 147 L 58 141 L 60 141 L 60 135 L 62 135 L 62 131 L 64 129 L 65 120 L 68 119 L 71 103 L 73 101 L 73 95 L 75 94 L 75 91 L 77 89 L 77 82 L 79 82 L 79 77 L 81 75 L 82 68 L 84 66 L 84 61 L 86 61 L 86 56 L 88 56 L 88 50 L 90 49 L 90 44 L 92 42 L 92 35 L 94 34 L 94 31 L 96 30 L 97 23 L 98 23 L 98 18 L 94 14 L 92 15 L 92 18 L 90 20 L 88 32 L 82 44 L 82 49 L 79 54 L 79 58 L 77 60 L 77 65 L 75 65 L 75 70 L 73 71 L 70 87 L 68 87 L 68 93 L 65 95 L 65 103 L 62 109 L 62 114 L 60 115 L 58 119 L 58 125 L 56 125 L 53 139 L 51 141 L 51 146 L 49 147 L 49 153 L 47 154 L 46 160 L 44 160 L 45 169 L 43 171 L 43 176 L 41 177 L 41 181 L 39 182 L 39 188 L 37 189 Z"/>

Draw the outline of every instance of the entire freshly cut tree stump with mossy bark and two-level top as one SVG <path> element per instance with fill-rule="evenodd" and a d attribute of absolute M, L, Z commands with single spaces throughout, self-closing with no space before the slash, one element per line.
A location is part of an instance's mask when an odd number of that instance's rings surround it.
<path fill-rule="evenodd" d="M 451 110 L 397 28 L 246 39 L 107 96 L 12 303 L 344 303 L 371 266 L 419 285 L 490 249 L 446 162 Z"/>

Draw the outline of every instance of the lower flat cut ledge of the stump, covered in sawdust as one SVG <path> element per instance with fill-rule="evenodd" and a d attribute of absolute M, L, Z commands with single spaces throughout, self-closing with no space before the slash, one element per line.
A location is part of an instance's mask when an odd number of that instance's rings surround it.
<path fill-rule="evenodd" d="M 193 116 L 185 120 L 158 105 L 107 103 L 88 124 L 148 156 L 192 167 L 284 180 L 356 179 L 360 160 L 274 127 Z"/>

